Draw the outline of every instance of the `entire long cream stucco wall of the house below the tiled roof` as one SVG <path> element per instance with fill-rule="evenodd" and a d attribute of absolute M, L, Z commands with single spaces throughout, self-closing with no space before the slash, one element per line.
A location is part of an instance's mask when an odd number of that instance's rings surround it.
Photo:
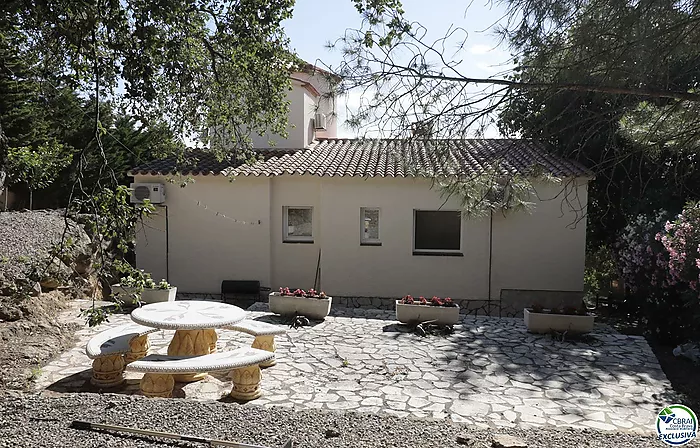
<path fill-rule="evenodd" d="M 566 210 L 561 197 L 552 199 L 560 190 L 538 186 L 545 201 L 531 215 L 494 216 L 493 298 L 500 288 L 582 289 L 585 220 L 570 228 L 575 213 Z M 452 201 L 443 205 L 424 179 L 280 176 L 230 183 L 197 176 L 184 189 L 166 184 L 166 191 L 169 281 L 181 292 L 217 293 L 225 279 L 258 279 L 274 289 L 310 288 L 320 249 L 321 287 L 329 294 L 488 296 L 488 218 L 462 221 L 463 257 L 413 255 L 413 210 L 457 208 Z M 585 204 L 585 182 L 574 191 Z M 283 242 L 284 206 L 313 207 L 312 244 Z M 360 207 L 381 208 L 381 246 L 360 245 Z M 165 272 L 163 212 L 139 232 L 137 246 L 138 267 L 157 279 L 165 277 L 156 275 Z M 217 212 L 261 224 L 236 223 Z"/>

